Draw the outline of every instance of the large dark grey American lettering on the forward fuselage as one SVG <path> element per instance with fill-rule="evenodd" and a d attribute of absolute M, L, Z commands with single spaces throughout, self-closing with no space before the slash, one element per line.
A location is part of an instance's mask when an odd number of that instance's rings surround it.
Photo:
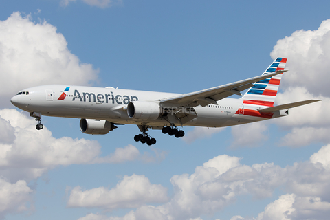
<path fill-rule="evenodd" d="M 83 95 L 81 95 L 83 94 Z M 72 101 L 78 99 L 80 102 L 98 102 L 98 103 L 112 103 L 115 104 L 129 104 L 131 101 L 137 101 L 137 96 L 115 95 L 111 91 L 110 94 L 94 94 L 92 92 L 81 93 L 78 90 L 74 90 L 74 97 Z M 62 95 L 61 95 L 62 96 Z M 64 98 L 63 98 L 64 99 Z"/>

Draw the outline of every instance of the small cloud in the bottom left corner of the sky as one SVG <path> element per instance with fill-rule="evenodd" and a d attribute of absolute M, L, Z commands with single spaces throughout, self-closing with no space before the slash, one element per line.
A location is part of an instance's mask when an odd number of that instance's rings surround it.
<path fill-rule="evenodd" d="M 0 177 L 0 219 L 8 213 L 32 210 L 32 193 L 24 180 L 11 184 Z"/>

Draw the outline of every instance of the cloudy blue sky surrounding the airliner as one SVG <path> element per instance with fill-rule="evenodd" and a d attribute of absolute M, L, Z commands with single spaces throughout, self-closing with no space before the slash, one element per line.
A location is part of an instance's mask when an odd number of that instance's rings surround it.
<path fill-rule="evenodd" d="M 327 219 L 330 3 L 8 1 L 0 8 L 0 219 Z M 328 20 L 329 19 L 329 20 Z M 322 102 L 267 122 L 196 129 L 153 147 L 137 126 L 36 131 L 10 98 L 66 84 L 187 93 L 288 58 L 276 102 Z M 239 96 L 236 96 L 239 98 Z"/>

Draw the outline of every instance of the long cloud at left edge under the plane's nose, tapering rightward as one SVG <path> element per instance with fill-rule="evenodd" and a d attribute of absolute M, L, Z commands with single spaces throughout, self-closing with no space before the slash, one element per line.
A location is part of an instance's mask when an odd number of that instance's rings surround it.
<path fill-rule="evenodd" d="M 0 175 L 12 181 L 40 177 L 55 166 L 70 164 L 118 164 L 133 160 L 155 162 L 164 157 L 162 151 L 141 154 L 131 144 L 116 148 L 114 153 L 99 157 L 101 146 L 96 141 L 55 138 L 45 127 L 37 131 L 36 122 L 14 109 L 0 110 Z M 37 153 L 36 153 L 37 152 Z"/>

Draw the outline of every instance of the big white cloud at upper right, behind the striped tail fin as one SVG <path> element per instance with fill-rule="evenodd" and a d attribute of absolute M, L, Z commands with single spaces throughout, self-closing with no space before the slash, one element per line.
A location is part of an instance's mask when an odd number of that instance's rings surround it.
<path fill-rule="evenodd" d="M 288 58 L 282 88 L 305 87 L 314 96 L 329 96 L 330 19 L 318 30 L 297 30 L 278 40 L 271 56 Z"/>

